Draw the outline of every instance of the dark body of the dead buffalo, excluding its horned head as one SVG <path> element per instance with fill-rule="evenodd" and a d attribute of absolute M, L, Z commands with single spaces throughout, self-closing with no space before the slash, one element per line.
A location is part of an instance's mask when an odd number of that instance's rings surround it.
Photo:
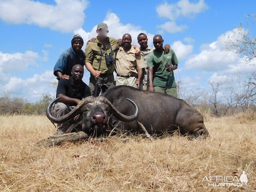
<path fill-rule="evenodd" d="M 116 86 L 102 94 L 118 111 L 127 116 L 134 113 L 132 104 L 124 98 L 133 100 L 140 109 L 138 121 L 141 122 L 149 134 L 161 135 L 164 132 L 172 133 L 178 130 L 181 134 L 198 137 L 208 136 L 209 132 L 204 126 L 203 116 L 184 100 L 159 92 L 141 91 L 130 86 Z M 111 116 L 109 124 L 130 132 L 142 132 L 138 121 L 122 122 Z"/>

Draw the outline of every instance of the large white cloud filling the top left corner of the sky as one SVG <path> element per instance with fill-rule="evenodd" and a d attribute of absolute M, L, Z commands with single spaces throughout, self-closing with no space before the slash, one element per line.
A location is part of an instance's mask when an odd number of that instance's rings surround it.
<path fill-rule="evenodd" d="M 35 24 L 72 32 L 84 24 L 87 0 L 55 0 L 50 5 L 32 0 L 1 0 L 0 18 L 13 24 Z"/>

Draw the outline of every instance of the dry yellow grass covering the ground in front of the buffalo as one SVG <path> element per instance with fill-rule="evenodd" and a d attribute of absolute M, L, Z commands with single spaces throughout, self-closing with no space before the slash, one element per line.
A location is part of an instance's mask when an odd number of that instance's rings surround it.
<path fill-rule="evenodd" d="M 210 137 L 201 141 L 112 136 L 42 148 L 34 144 L 56 130 L 45 116 L 0 116 L 0 191 L 256 191 L 255 114 L 205 124 Z M 202 182 L 242 170 L 246 187 Z"/>

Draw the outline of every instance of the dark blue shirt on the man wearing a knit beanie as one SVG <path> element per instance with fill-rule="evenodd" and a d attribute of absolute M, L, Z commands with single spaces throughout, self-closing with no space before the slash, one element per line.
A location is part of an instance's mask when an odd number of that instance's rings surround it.
<path fill-rule="evenodd" d="M 57 76 L 57 72 L 60 71 L 64 75 L 69 75 L 71 77 L 72 67 L 76 64 L 80 64 L 84 66 L 85 54 L 82 50 L 80 50 L 79 54 L 76 56 L 72 46 L 71 48 L 64 51 L 58 61 L 56 62 L 53 74 Z M 57 79 L 60 80 L 57 76 Z"/>

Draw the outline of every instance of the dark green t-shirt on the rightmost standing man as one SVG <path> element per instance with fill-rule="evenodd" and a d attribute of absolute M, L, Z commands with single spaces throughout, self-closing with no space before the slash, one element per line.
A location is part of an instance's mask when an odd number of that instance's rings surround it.
<path fill-rule="evenodd" d="M 176 87 L 173 71 L 166 70 L 166 62 L 169 65 L 178 64 L 178 59 L 173 49 L 162 53 L 154 50 L 148 56 L 148 67 L 153 67 L 153 85 L 160 87 Z"/>

